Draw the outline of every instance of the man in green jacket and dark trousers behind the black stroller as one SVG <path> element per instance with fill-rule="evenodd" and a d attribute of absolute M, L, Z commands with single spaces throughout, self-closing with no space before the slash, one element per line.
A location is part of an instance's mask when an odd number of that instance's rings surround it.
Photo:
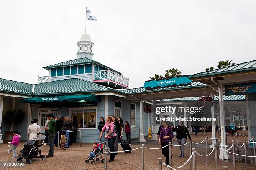
<path fill-rule="evenodd" d="M 45 128 L 45 130 L 48 130 L 48 145 L 50 147 L 50 150 L 46 157 L 53 157 L 56 121 L 54 120 L 53 115 L 51 114 L 47 115 L 47 119 L 49 120 L 49 125 L 48 128 Z"/>

